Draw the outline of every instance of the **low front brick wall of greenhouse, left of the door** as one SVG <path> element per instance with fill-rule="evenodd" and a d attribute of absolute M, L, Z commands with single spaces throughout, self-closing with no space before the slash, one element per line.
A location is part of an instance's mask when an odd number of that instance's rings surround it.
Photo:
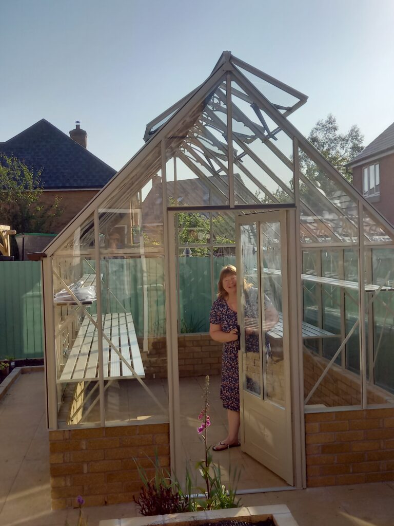
<path fill-rule="evenodd" d="M 131 502 L 141 488 L 133 458 L 150 476 L 147 455 L 170 465 L 169 424 L 49 431 L 53 509 L 69 508 L 82 495 L 87 506 Z"/>

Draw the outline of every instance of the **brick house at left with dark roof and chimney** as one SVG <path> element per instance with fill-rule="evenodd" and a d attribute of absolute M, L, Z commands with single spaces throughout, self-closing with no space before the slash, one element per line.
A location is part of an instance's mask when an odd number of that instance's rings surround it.
<path fill-rule="evenodd" d="M 87 133 L 77 121 L 68 137 L 46 119 L 41 119 L 15 137 L 0 143 L 0 153 L 15 156 L 30 168 L 42 170 L 43 204 L 61 198 L 63 214 L 56 219 L 60 232 L 116 174 L 87 149 Z"/>

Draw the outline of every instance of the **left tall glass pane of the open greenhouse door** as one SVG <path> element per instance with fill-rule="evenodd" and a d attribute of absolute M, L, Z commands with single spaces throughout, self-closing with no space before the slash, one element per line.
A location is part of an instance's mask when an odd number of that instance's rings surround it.
<path fill-rule="evenodd" d="M 242 290 L 241 305 L 244 305 L 244 326 L 241 338 L 245 343 L 242 354 L 243 389 L 260 397 L 262 385 L 262 358 L 259 338 L 258 294 L 260 284 L 257 277 L 257 226 L 241 225 L 242 277 L 246 286 Z"/>

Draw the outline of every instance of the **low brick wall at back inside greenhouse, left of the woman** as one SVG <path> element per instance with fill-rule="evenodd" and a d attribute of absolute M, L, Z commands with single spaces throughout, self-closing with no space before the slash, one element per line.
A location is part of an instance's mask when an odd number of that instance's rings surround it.
<path fill-rule="evenodd" d="M 138 339 L 140 349 L 143 340 Z M 179 376 L 220 375 L 222 343 L 213 341 L 209 334 L 179 335 Z M 167 378 L 167 343 L 165 337 L 149 338 L 149 352 L 141 353 L 146 378 Z"/>

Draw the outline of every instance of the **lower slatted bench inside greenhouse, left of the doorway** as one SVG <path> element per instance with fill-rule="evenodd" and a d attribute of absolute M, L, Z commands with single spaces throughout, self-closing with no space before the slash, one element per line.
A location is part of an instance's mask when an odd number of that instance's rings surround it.
<path fill-rule="evenodd" d="M 92 318 L 97 322 L 96 315 Z M 119 349 L 127 363 L 133 367 L 138 376 L 144 378 L 145 371 L 131 313 L 105 314 L 102 316 L 102 327 L 103 332 Z M 133 378 L 132 371 L 104 338 L 102 352 L 105 380 Z M 86 316 L 81 323 L 58 383 L 98 380 L 98 358 L 98 330 Z"/>

